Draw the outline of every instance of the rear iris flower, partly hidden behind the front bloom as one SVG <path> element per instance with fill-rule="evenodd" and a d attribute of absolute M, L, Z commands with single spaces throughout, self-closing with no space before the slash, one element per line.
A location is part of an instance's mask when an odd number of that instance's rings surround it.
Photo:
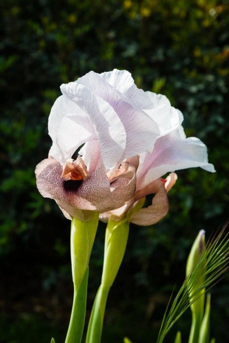
<path fill-rule="evenodd" d="M 201 167 L 215 172 L 214 166 L 208 163 L 206 145 L 196 137 L 186 138 L 182 127 L 183 115 L 171 107 L 166 96 L 145 92 L 151 99 L 154 107 L 170 107 L 170 118 L 164 113 L 154 113 L 145 109 L 157 123 L 160 136 L 157 138 L 151 151 L 139 154 L 139 167 L 136 174 L 136 191 L 134 196 L 122 207 L 101 214 L 102 221 L 128 218 L 128 221 L 137 225 L 152 225 L 161 220 L 169 210 L 167 192 L 177 180 L 174 171 Z M 166 178 L 163 175 L 170 172 Z M 152 204 L 138 210 L 137 202 L 149 194 L 154 194 Z M 135 208 L 135 210 L 134 210 Z"/>

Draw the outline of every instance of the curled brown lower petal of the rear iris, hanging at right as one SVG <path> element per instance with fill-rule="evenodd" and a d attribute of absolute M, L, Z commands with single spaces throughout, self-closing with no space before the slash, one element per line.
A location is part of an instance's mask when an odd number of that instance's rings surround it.
<path fill-rule="evenodd" d="M 129 220 L 131 223 L 148 226 L 159 222 L 167 214 L 169 201 L 165 187 L 159 179 L 153 183 L 156 194 L 153 197 L 152 205 L 135 212 Z"/>

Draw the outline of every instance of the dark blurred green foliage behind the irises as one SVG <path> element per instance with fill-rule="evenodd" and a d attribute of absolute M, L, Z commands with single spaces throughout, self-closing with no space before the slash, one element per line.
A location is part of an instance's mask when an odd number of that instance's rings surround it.
<path fill-rule="evenodd" d="M 64 342 L 72 301 L 70 222 L 36 189 L 34 169 L 51 146 L 59 86 L 90 70 L 126 69 L 185 117 L 217 173 L 179 171 L 171 209 L 132 226 L 108 301 L 103 342 L 153 343 L 199 230 L 228 219 L 229 0 L 7 0 L 0 2 L 0 342 Z M 94 247 L 87 320 L 100 282 L 105 226 Z M 229 279 L 212 291 L 212 335 L 228 339 Z M 186 314 L 177 329 L 190 326 Z M 175 332 L 167 342 L 174 341 Z"/>

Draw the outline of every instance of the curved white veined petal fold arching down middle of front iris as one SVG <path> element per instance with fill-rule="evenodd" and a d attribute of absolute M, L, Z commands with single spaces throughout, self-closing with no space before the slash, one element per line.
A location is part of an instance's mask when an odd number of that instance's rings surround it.
<path fill-rule="evenodd" d="M 106 169 L 113 167 L 121 160 L 126 142 L 124 127 L 113 107 L 76 82 L 62 85 L 61 91 L 89 116 L 95 127 L 103 163 Z"/>

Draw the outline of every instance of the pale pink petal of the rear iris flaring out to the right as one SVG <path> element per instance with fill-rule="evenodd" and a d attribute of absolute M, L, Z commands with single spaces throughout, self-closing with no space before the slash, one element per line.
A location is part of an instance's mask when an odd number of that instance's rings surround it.
<path fill-rule="evenodd" d="M 214 166 L 208 163 L 207 148 L 198 138 L 181 139 L 183 130 L 159 138 L 152 153 L 140 155 L 137 170 L 137 189 L 163 176 L 167 172 L 186 168 L 201 167 L 214 172 Z"/>

